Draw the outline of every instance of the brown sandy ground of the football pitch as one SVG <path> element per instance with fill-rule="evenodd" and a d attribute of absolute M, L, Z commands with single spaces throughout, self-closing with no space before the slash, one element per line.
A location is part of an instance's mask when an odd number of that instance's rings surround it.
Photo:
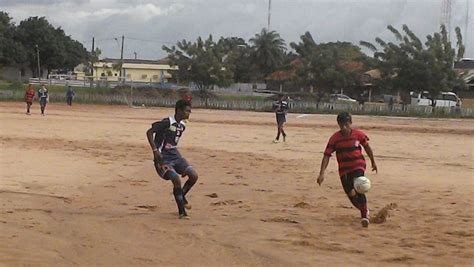
<path fill-rule="evenodd" d="M 355 116 L 379 173 L 360 226 L 331 160 L 334 115 L 193 110 L 181 153 L 200 174 L 178 220 L 145 131 L 172 109 L 0 103 L 0 265 L 341 266 L 474 262 L 474 120 Z M 211 197 L 212 194 L 217 197 Z"/>

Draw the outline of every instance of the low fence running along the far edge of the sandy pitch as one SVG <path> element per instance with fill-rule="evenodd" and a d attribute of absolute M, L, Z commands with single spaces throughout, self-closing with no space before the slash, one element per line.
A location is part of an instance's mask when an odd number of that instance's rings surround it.
<path fill-rule="evenodd" d="M 0 99 L 23 100 L 23 91 L 0 91 Z M 65 102 L 65 93 L 51 92 L 51 102 Z M 77 93 L 74 102 L 94 104 L 119 104 L 130 106 L 162 106 L 173 107 L 175 98 L 134 96 L 133 102 L 130 95 L 126 94 L 93 94 Z M 194 99 L 193 107 L 209 109 L 230 109 L 249 111 L 271 111 L 272 101 L 268 100 L 221 100 L 221 99 Z M 393 105 L 391 108 L 385 104 L 366 103 L 364 105 L 348 103 L 315 103 L 291 102 L 291 111 L 295 113 L 337 113 L 349 111 L 353 114 L 389 115 L 389 116 L 415 116 L 415 117 L 463 117 L 474 118 L 473 108 L 432 108 L 430 106 Z"/>

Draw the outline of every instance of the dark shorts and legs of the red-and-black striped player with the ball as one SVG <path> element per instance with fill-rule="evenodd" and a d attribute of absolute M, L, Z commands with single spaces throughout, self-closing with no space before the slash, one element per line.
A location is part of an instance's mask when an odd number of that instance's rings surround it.
<path fill-rule="evenodd" d="M 362 226 L 369 225 L 369 208 L 367 205 L 367 197 L 364 194 L 359 194 L 354 189 L 354 179 L 363 176 L 362 171 L 355 171 L 341 177 L 342 187 L 352 205 L 360 211 Z"/>

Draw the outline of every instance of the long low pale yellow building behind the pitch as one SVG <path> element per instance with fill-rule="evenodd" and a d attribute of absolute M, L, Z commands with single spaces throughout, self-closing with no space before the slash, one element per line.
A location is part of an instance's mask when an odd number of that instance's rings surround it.
<path fill-rule="evenodd" d="M 104 58 L 94 63 L 94 80 L 118 81 L 120 76 L 119 59 Z M 124 59 L 122 77 L 126 81 L 171 82 L 171 67 L 167 58 L 160 60 Z"/>

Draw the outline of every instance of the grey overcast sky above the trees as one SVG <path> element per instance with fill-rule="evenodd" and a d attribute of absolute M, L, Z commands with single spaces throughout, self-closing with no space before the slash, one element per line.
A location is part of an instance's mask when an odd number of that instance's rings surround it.
<path fill-rule="evenodd" d="M 465 57 L 474 58 L 474 0 L 451 0 L 452 26 L 465 33 L 466 6 L 470 6 Z M 272 0 L 271 30 L 286 43 L 299 41 L 309 31 L 316 42 L 391 39 L 391 24 L 407 24 L 422 41 L 439 29 L 442 0 Z M 246 39 L 267 26 L 268 0 L 0 0 L 0 10 L 15 23 L 45 16 L 72 38 L 91 49 L 92 37 L 103 56 L 158 59 L 163 44 L 195 40 L 212 34 Z M 452 31 L 454 40 L 454 30 Z M 117 37 L 117 40 L 114 38 Z"/>

